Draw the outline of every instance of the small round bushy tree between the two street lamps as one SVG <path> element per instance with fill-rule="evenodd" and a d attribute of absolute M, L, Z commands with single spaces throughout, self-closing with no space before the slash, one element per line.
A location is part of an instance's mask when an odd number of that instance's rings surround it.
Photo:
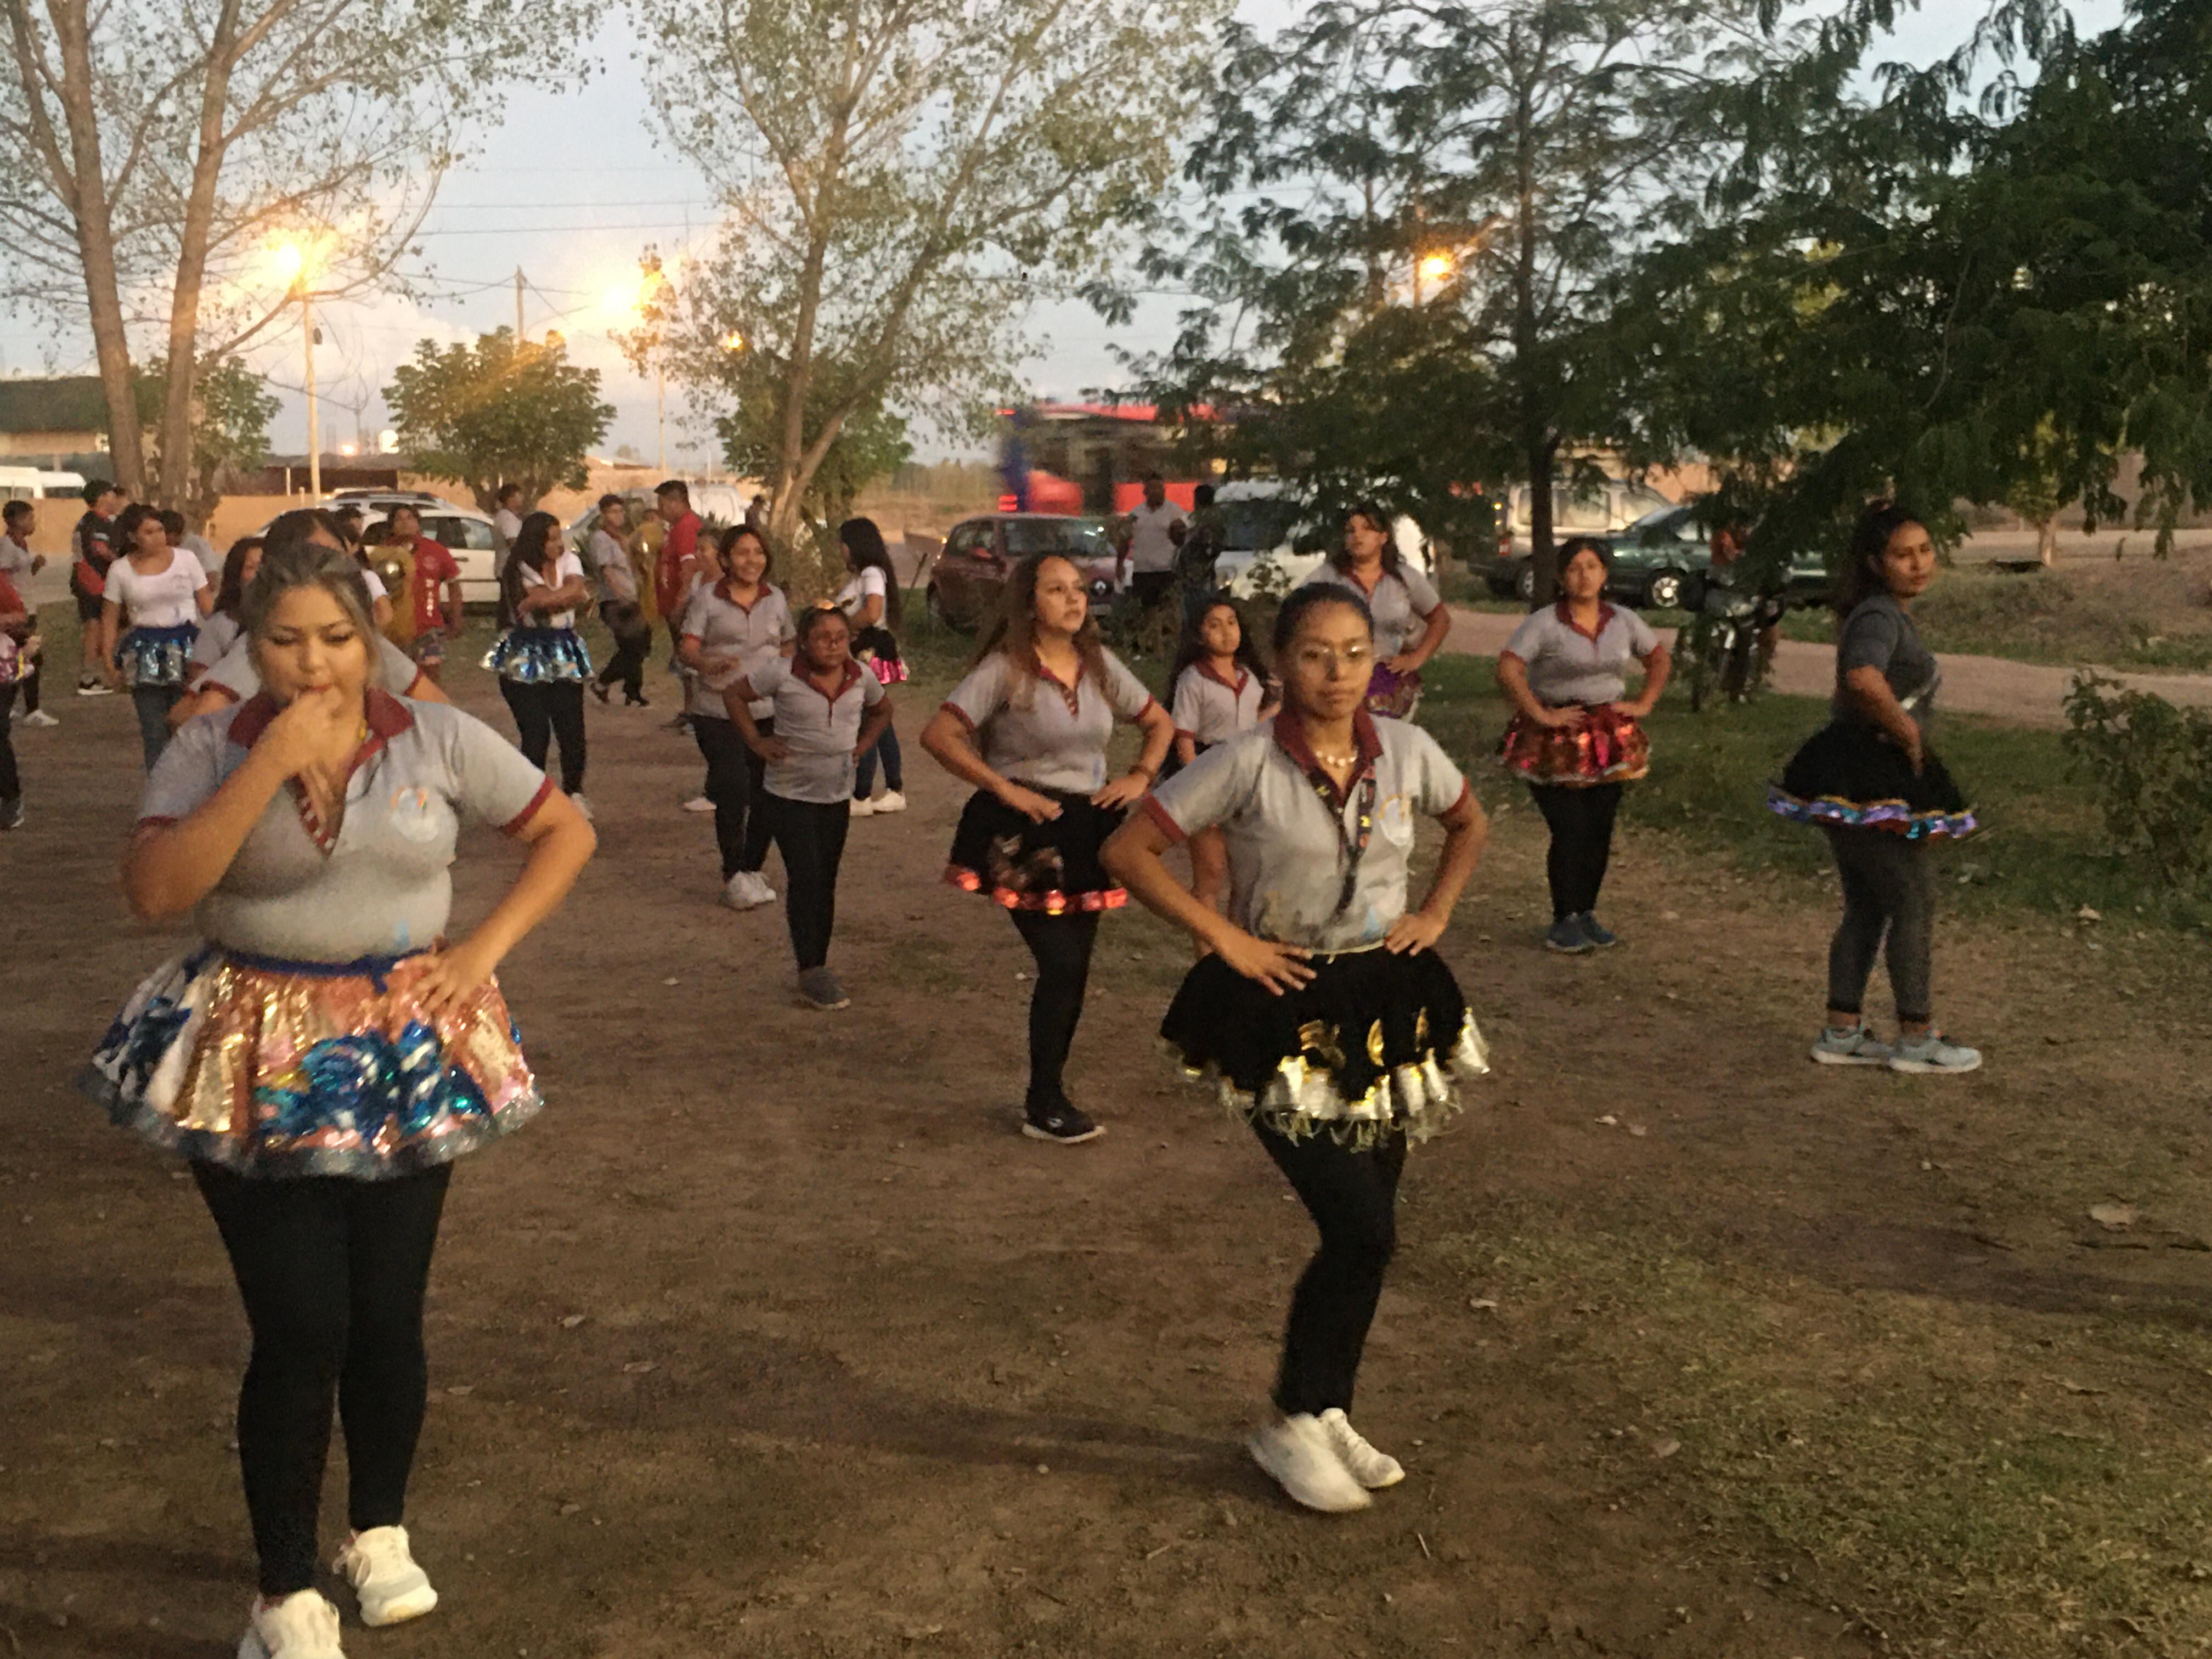
<path fill-rule="evenodd" d="M 500 484 L 522 484 L 533 502 L 582 489 L 584 458 L 615 420 L 597 369 L 568 363 L 557 336 L 515 345 L 504 327 L 476 345 L 418 343 L 392 372 L 385 403 L 416 471 L 467 484 L 484 511 Z"/>

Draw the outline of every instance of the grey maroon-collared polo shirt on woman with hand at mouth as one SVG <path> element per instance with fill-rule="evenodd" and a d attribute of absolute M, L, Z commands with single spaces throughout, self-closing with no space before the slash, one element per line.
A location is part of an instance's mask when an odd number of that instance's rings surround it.
<path fill-rule="evenodd" d="M 279 790 L 199 900 L 208 942 L 290 962 L 429 949 L 451 918 L 460 825 L 513 834 L 553 790 L 513 743 L 458 708 L 372 690 L 365 714 L 369 734 L 345 781 L 334 845 L 310 830 L 305 796 Z M 146 779 L 139 825 L 199 807 L 274 717 L 274 699 L 252 697 L 186 721 Z"/>

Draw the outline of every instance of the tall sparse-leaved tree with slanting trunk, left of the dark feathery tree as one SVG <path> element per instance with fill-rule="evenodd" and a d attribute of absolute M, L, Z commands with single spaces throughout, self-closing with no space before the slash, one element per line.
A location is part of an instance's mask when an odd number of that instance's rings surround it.
<path fill-rule="evenodd" d="M 726 210 L 664 349 L 706 389 L 781 383 L 761 451 L 774 542 L 796 540 L 847 422 L 907 409 L 973 431 L 1011 392 L 1026 307 L 1095 274 L 1166 184 L 1223 11 L 641 0 L 664 139 Z M 737 352 L 772 367 L 732 372 Z"/>

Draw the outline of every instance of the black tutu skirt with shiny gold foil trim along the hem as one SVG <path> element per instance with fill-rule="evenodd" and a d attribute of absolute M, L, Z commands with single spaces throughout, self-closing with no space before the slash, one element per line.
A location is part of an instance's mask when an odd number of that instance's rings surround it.
<path fill-rule="evenodd" d="M 1274 995 L 1219 956 L 1203 958 L 1159 1022 L 1183 1075 L 1212 1084 L 1239 1117 L 1281 1135 L 1371 1146 L 1436 1135 L 1489 1053 L 1436 951 L 1343 951 L 1314 982 Z"/>

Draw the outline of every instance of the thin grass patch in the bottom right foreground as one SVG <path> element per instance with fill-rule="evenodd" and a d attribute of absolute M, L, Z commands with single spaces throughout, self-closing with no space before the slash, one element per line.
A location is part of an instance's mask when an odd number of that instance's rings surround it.
<path fill-rule="evenodd" d="M 1807 1590 L 1867 1597 L 1898 1652 L 2212 1648 L 2205 1334 L 1843 1292 L 1524 1221 L 1436 1254 L 1524 1352 L 1626 1391 L 1593 1444 L 1719 1546 L 1801 1577 L 1809 1557 Z"/>

